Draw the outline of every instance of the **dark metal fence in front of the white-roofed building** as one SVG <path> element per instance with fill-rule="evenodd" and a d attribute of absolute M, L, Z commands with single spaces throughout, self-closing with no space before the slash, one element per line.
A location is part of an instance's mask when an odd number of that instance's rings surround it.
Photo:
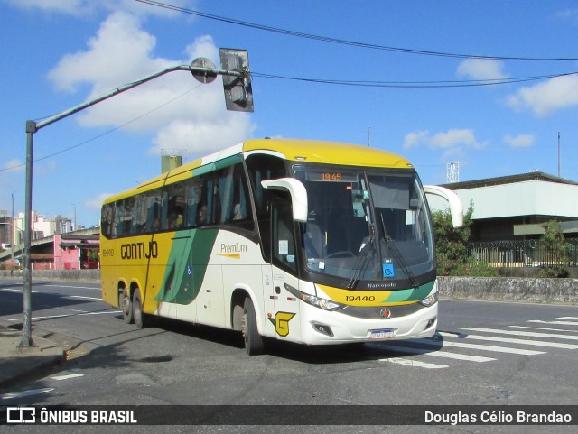
<path fill-rule="evenodd" d="M 566 240 L 567 260 L 560 261 L 553 251 L 542 247 L 538 240 L 488 241 L 470 243 L 468 254 L 490 267 L 543 267 L 546 265 L 576 266 L 578 264 L 578 239 Z"/>

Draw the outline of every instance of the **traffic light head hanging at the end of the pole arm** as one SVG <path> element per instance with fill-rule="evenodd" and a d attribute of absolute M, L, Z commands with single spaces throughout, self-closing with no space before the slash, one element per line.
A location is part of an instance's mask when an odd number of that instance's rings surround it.
<path fill-rule="evenodd" d="M 227 110 L 252 112 L 253 90 L 251 89 L 247 50 L 221 48 L 220 67 L 227 71 L 242 73 L 241 77 L 223 75 Z"/>

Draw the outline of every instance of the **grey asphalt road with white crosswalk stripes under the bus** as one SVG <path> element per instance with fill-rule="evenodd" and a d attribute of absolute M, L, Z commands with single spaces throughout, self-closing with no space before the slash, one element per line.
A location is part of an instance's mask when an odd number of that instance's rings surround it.
<path fill-rule="evenodd" d="M 22 322 L 21 310 L 21 282 L 0 282 L 0 319 L 17 325 Z M 438 334 L 432 339 L 361 347 L 270 343 L 266 355 L 247 356 L 237 333 L 169 320 L 158 320 L 145 329 L 126 325 L 117 309 L 100 300 L 98 284 L 34 282 L 33 326 L 51 331 L 54 340 L 70 346 L 71 357 L 61 372 L 21 384 L 14 392 L 35 392 L 19 397 L 18 405 L 505 406 L 578 402 L 576 306 L 441 300 Z M 64 428 L 79 432 L 74 427 Z M 175 427 L 170 428 L 166 432 L 175 432 Z M 275 432 L 301 432 L 298 428 L 276 427 Z M 422 428 L 428 432 L 544 430 Z M 548 431 L 567 432 L 565 428 L 549 427 Z M 87 429 L 90 427 L 83 427 L 82 432 Z M 305 429 L 327 432 L 322 426 Z M 255 427 L 182 430 L 270 431 Z M 383 432 L 383 427 L 331 430 Z M 415 432 L 411 427 L 395 430 Z M 165 431 L 156 427 L 151 432 Z"/>

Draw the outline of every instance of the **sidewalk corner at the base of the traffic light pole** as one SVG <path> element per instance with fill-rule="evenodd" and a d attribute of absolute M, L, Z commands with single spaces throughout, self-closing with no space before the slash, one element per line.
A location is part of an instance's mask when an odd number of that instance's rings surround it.
<path fill-rule="evenodd" d="M 34 346 L 19 349 L 22 336 L 22 330 L 0 322 L 0 389 L 46 373 L 66 359 L 64 348 L 52 342 L 50 336 L 33 330 Z"/>

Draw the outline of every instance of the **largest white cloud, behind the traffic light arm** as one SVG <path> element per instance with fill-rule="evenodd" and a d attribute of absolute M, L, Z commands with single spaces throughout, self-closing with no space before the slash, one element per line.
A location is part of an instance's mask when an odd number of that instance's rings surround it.
<path fill-rule="evenodd" d="M 185 60 L 155 57 L 155 44 L 154 36 L 142 29 L 134 15 L 117 12 L 101 24 L 85 51 L 64 56 L 49 77 L 64 91 L 88 83 L 88 99 L 92 99 L 135 79 L 190 64 L 197 57 L 219 64 L 219 50 L 208 35 L 184 47 Z M 191 156 L 241 142 L 255 129 L 250 115 L 227 112 L 221 78 L 203 85 L 187 71 L 170 72 L 127 90 L 77 119 L 85 126 L 125 125 L 136 132 L 154 132 L 152 152 L 182 149 Z"/>

